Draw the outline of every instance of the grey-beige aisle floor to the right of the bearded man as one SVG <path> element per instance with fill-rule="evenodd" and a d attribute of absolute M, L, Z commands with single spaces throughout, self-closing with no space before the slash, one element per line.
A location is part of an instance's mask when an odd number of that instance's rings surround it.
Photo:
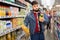
<path fill-rule="evenodd" d="M 51 21 L 51 30 L 47 30 L 45 27 L 45 40 L 56 40 L 54 33 L 54 21 Z"/>

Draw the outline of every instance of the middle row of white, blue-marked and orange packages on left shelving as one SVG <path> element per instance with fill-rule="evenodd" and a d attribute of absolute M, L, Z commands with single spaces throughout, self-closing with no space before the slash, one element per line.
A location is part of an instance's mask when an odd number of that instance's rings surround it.
<path fill-rule="evenodd" d="M 23 21 L 24 21 L 24 18 L 0 20 L 0 34 L 9 29 L 20 27 L 23 24 Z"/>

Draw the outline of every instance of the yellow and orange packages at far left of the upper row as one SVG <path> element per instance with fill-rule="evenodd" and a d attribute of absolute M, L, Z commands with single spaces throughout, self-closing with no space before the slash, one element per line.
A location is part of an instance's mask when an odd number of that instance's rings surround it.
<path fill-rule="evenodd" d="M 0 5 L 0 17 L 11 16 L 9 6 Z"/>

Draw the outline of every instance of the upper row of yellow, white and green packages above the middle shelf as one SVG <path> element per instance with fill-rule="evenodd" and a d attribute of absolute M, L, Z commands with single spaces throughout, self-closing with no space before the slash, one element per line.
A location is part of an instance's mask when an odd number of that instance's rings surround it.
<path fill-rule="evenodd" d="M 21 9 L 19 11 L 17 7 L 0 5 L 0 17 L 16 17 L 19 15 L 25 15 L 25 10 Z"/>

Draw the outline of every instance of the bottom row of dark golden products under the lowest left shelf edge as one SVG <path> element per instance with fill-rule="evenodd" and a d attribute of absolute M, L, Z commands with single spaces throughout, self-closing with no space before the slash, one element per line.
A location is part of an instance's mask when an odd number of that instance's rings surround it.
<path fill-rule="evenodd" d="M 23 31 L 21 29 L 17 29 L 16 31 L 13 31 L 11 33 L 8 33 L 4 36 L 1 36 L 0 37 L 0 40 L 17 40 L 19 39 L 18 36 L 22 35 L 23 34 Z M 23 37 L 24 35 L 21 36 L 21 38 Z"/>

